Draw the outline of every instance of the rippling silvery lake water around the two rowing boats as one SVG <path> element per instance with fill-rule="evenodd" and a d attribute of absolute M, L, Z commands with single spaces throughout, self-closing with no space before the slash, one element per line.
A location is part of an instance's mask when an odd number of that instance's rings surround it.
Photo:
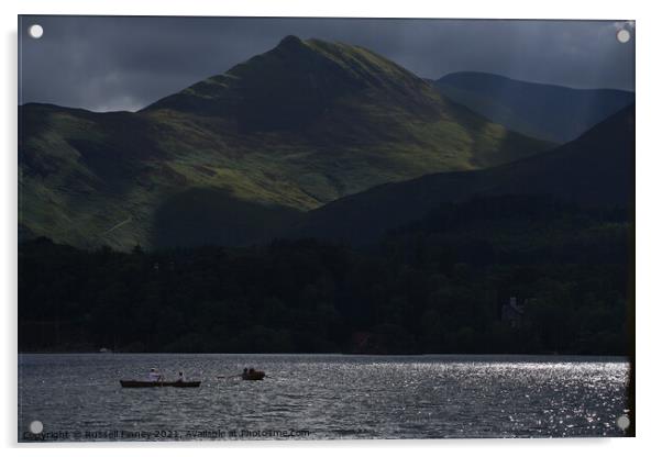
<path fill-rule="evenodd" d="M 267 378 L 217 379 L 245 366 Z M 151 367 L 202 384 L 120 387 Z M 22 354 L 19 439 L 622 436 L 627 378 L 596 357 Z"/>

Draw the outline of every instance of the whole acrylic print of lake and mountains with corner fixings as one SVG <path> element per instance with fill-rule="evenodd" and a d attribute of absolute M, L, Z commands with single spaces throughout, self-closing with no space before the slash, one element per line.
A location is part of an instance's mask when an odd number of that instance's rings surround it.
<path fill-rule="evenodd" d="M 633 22 L 19 30 L 19 441 L 635 434 Z"/>

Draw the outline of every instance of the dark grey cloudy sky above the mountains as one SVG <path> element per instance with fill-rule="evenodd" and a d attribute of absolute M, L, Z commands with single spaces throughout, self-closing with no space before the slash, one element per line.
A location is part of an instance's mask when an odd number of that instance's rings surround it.
<path fill-rule="evenodd" d="M 43 26 L 38 40 L 27 34 Z M 632 40 L 620 43 L 621 29 Z M 135 111 L 275 47 L 286 35 L 357 44 L 420 77 L 486 71 L 635 90 L 631 21 L 34 16 L 19 21 L 19 102 Z"/>

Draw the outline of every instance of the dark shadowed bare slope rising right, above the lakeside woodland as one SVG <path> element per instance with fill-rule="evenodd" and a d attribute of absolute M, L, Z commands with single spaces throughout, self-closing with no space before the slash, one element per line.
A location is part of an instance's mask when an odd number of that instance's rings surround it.
<path fill-rule="evenodd" d="M 499 167 L 388 183 L 310 211 L 290 236 L 371 244 L 426 218 L 441 203 L 473 197 L 550 196 L 586 208 L 633 208 L 635 107 L 574 142 Z"/>

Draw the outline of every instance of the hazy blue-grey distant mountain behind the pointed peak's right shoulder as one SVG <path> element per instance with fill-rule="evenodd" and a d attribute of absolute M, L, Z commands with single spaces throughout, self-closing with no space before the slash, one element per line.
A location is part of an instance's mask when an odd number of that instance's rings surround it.
<path fill-rule="evenodd" d="M 462 71 L 434 81 L 444 97 L 507 129 L 554 143 L 575 140 L 635 102 L 635 93 L 613 89 L 571 89 Z"/>

